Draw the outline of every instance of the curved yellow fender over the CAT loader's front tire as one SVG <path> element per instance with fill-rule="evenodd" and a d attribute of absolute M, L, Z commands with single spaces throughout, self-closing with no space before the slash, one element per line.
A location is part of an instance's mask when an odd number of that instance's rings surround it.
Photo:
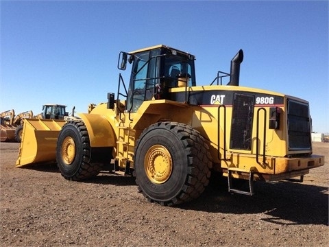
<path fill-rule="evenodd" d="M 115 134 L 108 120 L 99 114 L 80 113 L 88 130 L 90 147 L 114 147 L 116 145 Z"/>

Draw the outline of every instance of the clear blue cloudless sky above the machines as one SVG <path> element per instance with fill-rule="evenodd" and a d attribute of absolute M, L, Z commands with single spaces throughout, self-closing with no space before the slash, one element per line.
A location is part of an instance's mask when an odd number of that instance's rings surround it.
<path fill-rule="evenodd" d="M 243 49 L 240 85 L 310 102 L 329 133 L 328 1 L 1 1 L 0 112 L 41 112 L 117 95 L 120 51 L 168 45 L 196 56 L 197 85 Z"/>

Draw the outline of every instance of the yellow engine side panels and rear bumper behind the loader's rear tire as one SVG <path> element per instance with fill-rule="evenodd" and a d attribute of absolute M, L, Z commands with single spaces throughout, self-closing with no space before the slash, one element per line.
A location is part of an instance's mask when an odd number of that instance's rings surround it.
<path fill-rule="evenodd" d="M 259 107 L 255 108 L 255 112 Z M 284 107 L 282 107 L 283 113 Z M 267 113 L 269 111 L 267 110 Z M 289 158 L 292 154 L 299 154 L 300 151 L 289 151 L 287 148 L 287 130 L 268 130 L 265 133 L 266 141 L 263 139 L 263 111 L 260 112 L 260 131 L 259 137 L 256 138 L 256 114 L 254 116 L 254 124 L 252 133 L 252 148 L 251 150 L 234 150 L 230 149 L 230 133 L 231 133 L 231 115 L 232 108 L 226 108 L 226 133 L 223 130 L 224 118 L 223 110 L 218 107 L 195 106 L 193 110 L 193 128 L 202 132 L 202 135 L 209 140 L 210 154 L 214 163 L 213 169 L 217 171 L 226 171 L 228 167 L 238 169 L 239 172 L 249 173 L 250 170 L 261 174 L 260 177 L 265 180 L 277 180 L 283 178 L 291 178 L 294 176 L 302 176 L 308 174 L 311 168 L 324 165 L 324 156 L 296 156 Z M 218 116 L 220 115 L 220 116 Z M 267 121 L 269 116 L 267 117 Z M 281 116 L 281 122 L 287 121 L 284 119 L 284 114 Z M 219 124 L 219 128 L 218 128 Z M 267 123 L 268 124 L 268 123 Z M 226 134 L 226 149 L 224 150 L 224 135 Z M 218 138 L 219 136 L 219 138 Z M 218 143 L 220 141 L 220 143 Z M 258 142 L 258 152 L 256 144 Z M 263 163 L 263 145 L 265 145 L 265 163 Z M 224 155 L 225 154 L 225 155 Z M 258 154 L 258 162 L 256 155 Z M 226 156 L 226 160 L 224 160 Z M 238 172 L 234 173 L 234 177 Z M 224 172 L 227 176 L 227 173 Z M 264 175 L 264 176 L 263 176 Z"/>

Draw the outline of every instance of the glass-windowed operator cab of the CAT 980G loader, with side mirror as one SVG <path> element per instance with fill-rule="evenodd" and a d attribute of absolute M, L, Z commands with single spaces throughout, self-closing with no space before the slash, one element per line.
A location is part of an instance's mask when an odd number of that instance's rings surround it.
<path fill-rule="evenodd" d="M 118 68 L 132 63 L 127 108 L 136 112 L 145 100 L 169 99 L 169 89 L 195 86 L 195 56 L 164 45 L 121 52 Z"/>

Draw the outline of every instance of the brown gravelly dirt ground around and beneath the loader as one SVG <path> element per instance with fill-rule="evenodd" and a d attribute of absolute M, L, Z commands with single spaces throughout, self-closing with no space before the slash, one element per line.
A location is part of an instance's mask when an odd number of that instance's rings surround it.
<path fill-rule="evenodd" d="M 326 164 L 304 183 L 255 183 L 251 197 L 217 177 L 197 200 L 162 207 L 132 177 L 81 183 L 56 165 L 17 168 L 19 143 L 1 143 L 0 246 L 329 246 L 329 143 L 313 148 Z"/>

